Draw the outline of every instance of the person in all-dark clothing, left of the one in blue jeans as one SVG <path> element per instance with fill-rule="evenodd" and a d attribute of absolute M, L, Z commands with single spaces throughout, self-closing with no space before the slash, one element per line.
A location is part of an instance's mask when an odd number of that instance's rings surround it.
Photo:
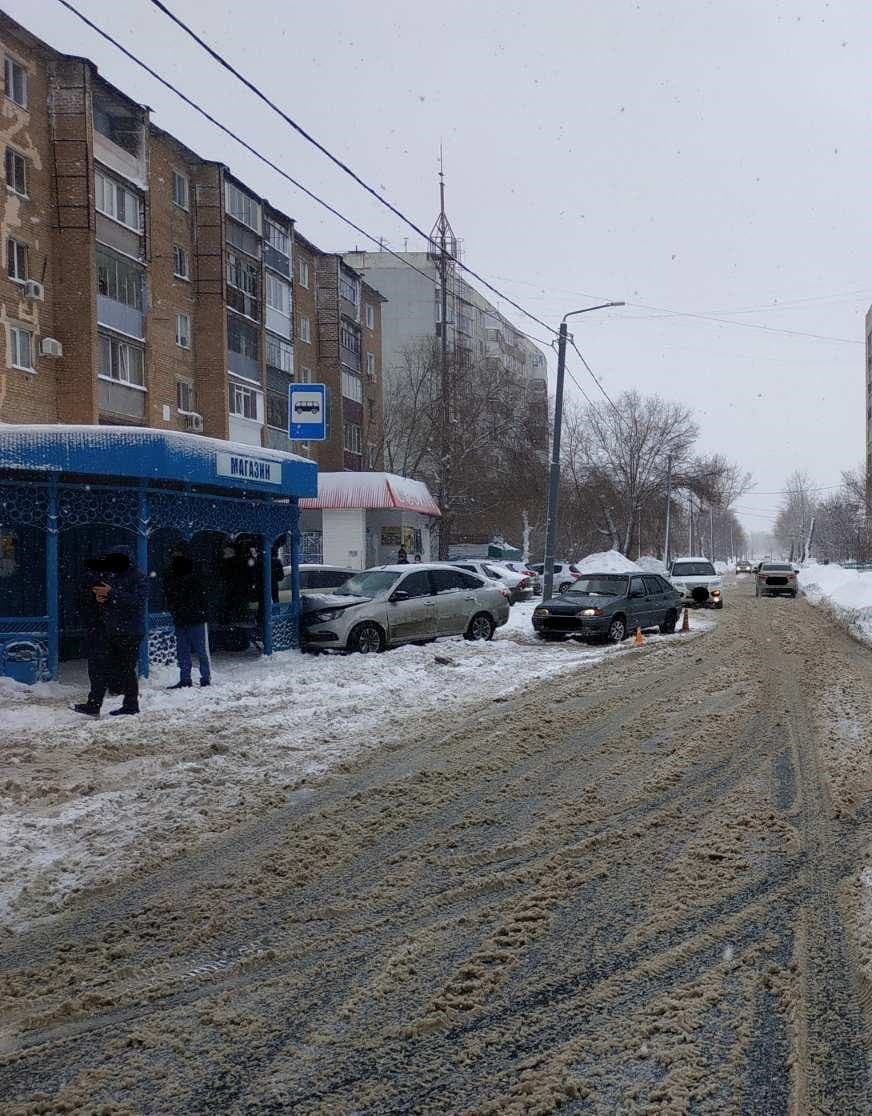
<path fill-rule="evenodd" d="M 137 661 L 145 635 L 148 583 L 136 568 L 130 547 L 113 547 L 89 564 L 83 579 L 79 607 L 88 635 L 88 700 L 74 709 L 98 716 L 109 682 L 117 680 L 124 694 L 113 715 L 140 712 Z"/>

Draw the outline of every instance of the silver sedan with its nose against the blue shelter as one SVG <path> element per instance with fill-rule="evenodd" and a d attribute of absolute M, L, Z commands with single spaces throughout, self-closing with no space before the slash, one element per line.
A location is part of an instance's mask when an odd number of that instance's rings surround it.
<path fill-rule="evenodd" d="M 435 564 L 380 566 L 329 596 L 309 597 L 300 641 L 306 650 L 368 653 L 447 635 L 490 639 L 508 618 L 504 594 L 476 574 Z"/>

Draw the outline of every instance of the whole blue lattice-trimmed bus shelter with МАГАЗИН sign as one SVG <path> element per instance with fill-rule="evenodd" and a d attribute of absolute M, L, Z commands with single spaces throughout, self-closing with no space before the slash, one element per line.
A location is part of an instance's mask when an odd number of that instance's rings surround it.
<path fill-rule="evenodd" d="M 258 635 L 266 654 L 297 646 L 299 511 L 317 466 L 294 454 L 132 426 L 0 425 L 0 675 L 56 679 L 85 648 L 83 564 L 126 542 L 150 575 L 140 667 L 175 655 L 163 573 L 185 539 L 210 588 L 227 594 L 221 555 L 245 541 L 258 564 Z M 274 602 L 271 564 L 289 556 L 290 599 Z"/>

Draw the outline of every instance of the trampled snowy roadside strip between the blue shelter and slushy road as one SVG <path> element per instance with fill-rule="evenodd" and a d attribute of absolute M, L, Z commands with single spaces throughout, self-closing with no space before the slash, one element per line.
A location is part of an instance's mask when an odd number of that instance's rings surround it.
<path fill-rule="evenodd" d="M 282 805 L 306 779 L 418 731 L 422 716 L 462 718 L 529 683 L 634 653 L 631 641 L 543 644 L 533 608 L 516 605 L 489 644 L 219 661 L 209 690 L 167 692 L 178 674 L 161 668 L 143 684 L 138 718 L 71 712 L 86 690 L 82 670 L 78 685 L 0 679 L 0 932 Z"/>

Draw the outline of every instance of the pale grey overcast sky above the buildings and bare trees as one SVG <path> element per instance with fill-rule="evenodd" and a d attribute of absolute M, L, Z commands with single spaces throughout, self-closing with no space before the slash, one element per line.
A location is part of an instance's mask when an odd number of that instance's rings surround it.
<path fill-rule="evenodd" d="M 579 347 L 610 394 L 635 387 L 693 408 L 701 449 L 757 481 L 740 503 L 747 527 L 767 527 L 793 469 L 835 485 L 862 461 L 872 300 L 863 0 L 166 2 L 428 229 L 441 142 L 466 262 L 537 317 L 557 324 L 592 299 L 625 299 L 576 319 Z M 418 247 L 148 0 L 77 3 L 376 238 Z M 364 247 L 56 0 L 4 8 L 59 50 L 93 58 L 316 243 Z M 578 360 L 571 367 L 595 396 Z"/>

